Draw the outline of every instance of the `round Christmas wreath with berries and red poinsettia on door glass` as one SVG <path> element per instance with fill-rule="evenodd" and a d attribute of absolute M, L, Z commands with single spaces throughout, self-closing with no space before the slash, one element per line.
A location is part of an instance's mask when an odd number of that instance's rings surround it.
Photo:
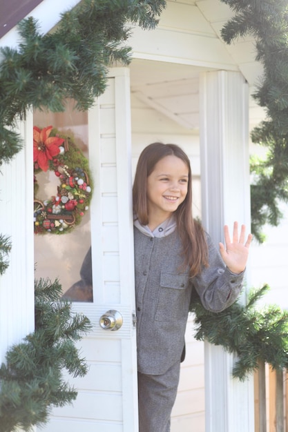
<path fill-rule="evenodd" d="M 77 148 L 72 134 L 52 126 L 33 128 L 34 232 L 68 233 L 81 222 L 92 196 L 88 160 Z M 52 170 L 59 178 L 55 195 L 37 197 L 37 174 Z"/>

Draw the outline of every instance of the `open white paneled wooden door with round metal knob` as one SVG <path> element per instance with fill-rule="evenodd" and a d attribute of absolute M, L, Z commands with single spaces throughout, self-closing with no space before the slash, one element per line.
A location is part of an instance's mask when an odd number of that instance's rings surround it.
<path fill-rule="evenodd" d="M 69 378 L 77 400 L 52 411 L 48 432 L 138 430 L 130 117 L 128 69 L 115 68 L 88 114 L 93 303 L 75 302 L 73 308 L 93 323 L 79 342 L 90 369 L 85 377 Z M 99 324 L 110 310 L 123 319 L 116 331 Z"/>

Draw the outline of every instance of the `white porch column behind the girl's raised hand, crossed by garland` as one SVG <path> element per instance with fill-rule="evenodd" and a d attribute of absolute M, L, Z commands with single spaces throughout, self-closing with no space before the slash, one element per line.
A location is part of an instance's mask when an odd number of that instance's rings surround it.
<path fill-rule="evenodd" d="M 216 245 L 223 226 L 250 227 L 248 85 L 240 72 L 200 77 L 202 223 Z M 249 281 L 247 282 L 249 287 Z M 205 342 L 207 432 L 251 432 L 253 377 L 233 379 L 233 355 Z"/>

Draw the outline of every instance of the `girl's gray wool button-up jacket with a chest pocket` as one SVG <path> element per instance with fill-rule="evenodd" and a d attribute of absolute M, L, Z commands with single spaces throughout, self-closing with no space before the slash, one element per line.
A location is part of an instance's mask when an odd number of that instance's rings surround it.
<path fill-rule="evenodd" d="M 181 244 L 177 230 L 167 237 L 148 237 L 134 228 L 138 370 L 158 375 L 180 361 L 195 287 L 209 311 L 220 312 L 235 302 L 244 272 L 225 267 L 207 235 L 209 267 L 196 277 L 180 273 Z"/>

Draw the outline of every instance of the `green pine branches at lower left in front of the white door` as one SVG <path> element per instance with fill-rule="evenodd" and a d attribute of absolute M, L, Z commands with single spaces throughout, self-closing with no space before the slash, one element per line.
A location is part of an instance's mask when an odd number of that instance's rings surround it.
<path fill-rule="evenodd" d="M 60 301 L 57 280 L 35 282 L 35 332 L 6 353 L 0 367 L 0 432 L 30 431 L 48 421 L 52 406 L 64 406 L 77 392 L 63 379 L 84 376 L 88 367 L 75 347 L 91 324 Z"/>

